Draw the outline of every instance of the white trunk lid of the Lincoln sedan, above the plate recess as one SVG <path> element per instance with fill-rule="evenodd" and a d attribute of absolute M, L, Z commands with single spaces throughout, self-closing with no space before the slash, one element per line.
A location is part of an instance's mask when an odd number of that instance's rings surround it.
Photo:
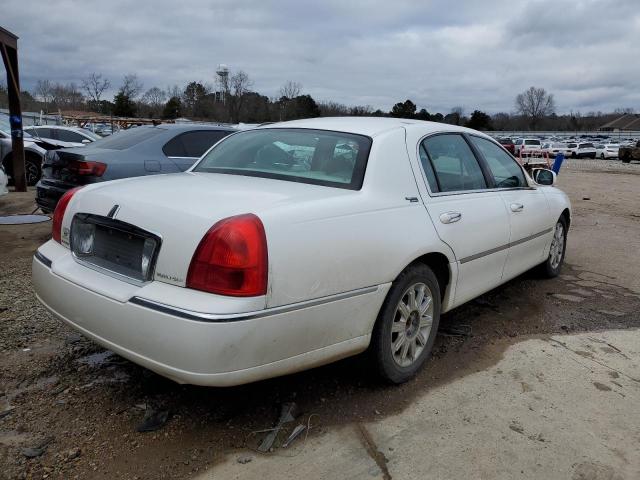
<path fill-rule="evenodd" d="M 179 192 L 179 193 L 178 193 Z M 80 190 L 65 216 L 109 218 L 157 236 L 159 253 L 152 278 L 184 286 L 198 243 L 217 221 L 234 215 L 264 214 L 278 206 L 353 195 L 351 190 L 213 173 L 180 173 L 124 179 Z M 269 225 L 265 223 L 267 242 Z"/>

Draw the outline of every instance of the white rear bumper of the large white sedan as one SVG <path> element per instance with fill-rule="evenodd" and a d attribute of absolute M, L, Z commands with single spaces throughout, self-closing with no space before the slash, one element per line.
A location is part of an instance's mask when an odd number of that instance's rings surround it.
<path fill-rule="evenodd" d="M 290 308 L 207 316 L 185 305 L 166 305 L 190 294 L 183 287 L 163 284 L 166 303 L 145 299 L 140 293 L 144 289 L 129 296 L 138 288 L 129 284 L 122 290 L 129 289 L 128 293 L 111 298 L 105 294 L 108 290 L 96 291 L 93 280 L 104 277 L 107 283 L 124 282 L 70 257 L 55 242 L 36 253 L 33 284 L 40 302 L 57 318 L 115 353 L 176 382 L 195 385 L 240 385 L 362 352 L 390 286 Z M 167 289 L 174 289 L 175 295 L 167 295 Z"/>

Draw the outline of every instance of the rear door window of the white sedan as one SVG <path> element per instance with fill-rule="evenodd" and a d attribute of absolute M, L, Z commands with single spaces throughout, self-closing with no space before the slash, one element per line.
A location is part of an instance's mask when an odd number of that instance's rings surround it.
<path fill-rule="evenodd" d="M 425 174 L 428 179 L 429 168 L 433 170 L 437 191 L 459 192 L 487 188 L 480 165 L 462 136 L 435 135 L 426 138 L 422 146 L 427 154 L 425 160 L 429 161 L 429 165 L 425 165 L 423 161 Z M 430 186 L 431 183 L 430 181 Z"/>

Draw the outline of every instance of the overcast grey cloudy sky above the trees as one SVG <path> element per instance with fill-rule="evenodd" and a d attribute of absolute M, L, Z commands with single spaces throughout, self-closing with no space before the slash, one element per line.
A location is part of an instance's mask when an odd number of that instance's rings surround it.
<path fill-rule="evenodd" d="M 219 63 L 274 96 L 389 110 L 407 98 L 512 111 L 531 85 L 559 113 L 640 110 L 640 0 L 3 0 L 23 89 L 102 73 L 117 87 L 214 82 Z"/>

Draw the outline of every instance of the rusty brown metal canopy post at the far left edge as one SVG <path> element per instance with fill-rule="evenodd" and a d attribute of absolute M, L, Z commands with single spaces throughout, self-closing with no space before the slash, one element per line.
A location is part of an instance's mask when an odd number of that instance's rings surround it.
<path fill-rule="evenodd" d="M 20 109 L 20 76 L 18 75 L 18 37 L 0 27 L 0 53 L 7 71 L 9 91 L 9 123 L 13 160 L 13 181 L 16 192 L 27 191 L 24 169 L 24 142 L 22 139 L 22 110 Z"/>

